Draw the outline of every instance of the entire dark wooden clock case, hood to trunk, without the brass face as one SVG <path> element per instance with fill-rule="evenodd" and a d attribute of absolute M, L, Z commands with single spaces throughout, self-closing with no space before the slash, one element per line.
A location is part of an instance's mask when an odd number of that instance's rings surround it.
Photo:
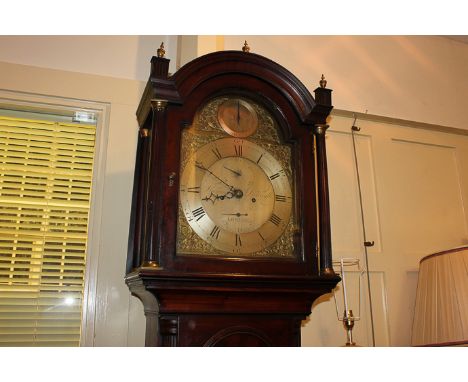
<path fill-rule="evenodd" d="M 339 281 L 332 269 L 326 120 L 331 90 L 315 98 L 263 56 L 222 51 L 174 75 L 153 57 L 140 126 L 125 281 L 144 305 L 147 346 L 298 346 L 313 301 Z M 200 106 L 221 96 L 251 99 L 290 143 L 299 234 L 289 259 L 176 255 L 180 145 Z"/>

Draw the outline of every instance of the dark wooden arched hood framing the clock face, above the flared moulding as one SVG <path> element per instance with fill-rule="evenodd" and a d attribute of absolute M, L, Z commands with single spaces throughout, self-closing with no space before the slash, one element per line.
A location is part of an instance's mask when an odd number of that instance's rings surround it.
<path fill-rule="evenodd" d="M 252 53 L 208 54 L 171 77 L 167 76 L 168 63 L 153 57 L 151 76 L 137 110 L 140 131 L 149 133 L 140 134 L 138 143 L 127 273 L 321 277 L 317 232 L 322 228 L 318 229 L 317 220 L 328 225 L 329 220 L 316 218 L 314 133 L 315 126 L 326 123 L 332 109 L 331 90 L 317 89 L 316 99 L 321 102 L 317 103 L 292 73 Z M 182 129 L 192 123 L 200 105 L 226 94 L 251 98 L 271 111 L 284 141 L 300 154 L 294 156 L 297 208 L 302 212 L 294 260 L 175 255 Z M 327 253 L 331 256 L 330 250 Z"/>

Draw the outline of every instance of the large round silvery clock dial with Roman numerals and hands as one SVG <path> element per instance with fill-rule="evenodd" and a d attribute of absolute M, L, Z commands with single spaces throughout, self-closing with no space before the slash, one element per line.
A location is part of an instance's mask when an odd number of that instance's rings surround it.
<path fill-rule="evenodd" d="M 276 242 L 292 209 L 291 187 L 280 163 L 264 148 L 238 138 L 212 141 L 188 159 L 180 202 L 201 239 L 234 254 Z"/>

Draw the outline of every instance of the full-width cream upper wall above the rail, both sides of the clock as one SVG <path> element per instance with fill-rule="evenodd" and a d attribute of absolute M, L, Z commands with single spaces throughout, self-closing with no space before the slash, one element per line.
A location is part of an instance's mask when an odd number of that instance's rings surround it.
<path fill-rule="evenodd" d="M 0 36 L 0 61 L 146 81 L 161 42 L 179 64 L 215 50 L 271 58 L 335 108 L 468 129 L 468 44 L 439 36 Z"/>

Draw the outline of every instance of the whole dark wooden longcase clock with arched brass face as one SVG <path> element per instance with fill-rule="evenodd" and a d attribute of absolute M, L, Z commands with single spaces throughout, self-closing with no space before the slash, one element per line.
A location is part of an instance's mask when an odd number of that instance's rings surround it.
<path fill-rule="evenodd" d="M 126 283 L 147 346 L 299 346 L 331 263 L 326 119 L 277 63 L 247 51 L 168 75 L 151 61 L 140 126 Z"/>

